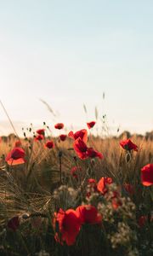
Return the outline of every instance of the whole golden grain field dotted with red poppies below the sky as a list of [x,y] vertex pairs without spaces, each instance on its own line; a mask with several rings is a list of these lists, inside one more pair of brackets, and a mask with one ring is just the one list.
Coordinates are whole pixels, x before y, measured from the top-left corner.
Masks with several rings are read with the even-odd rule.
[[1,138],[0,255],[152,255],[152,137],[55,128]]

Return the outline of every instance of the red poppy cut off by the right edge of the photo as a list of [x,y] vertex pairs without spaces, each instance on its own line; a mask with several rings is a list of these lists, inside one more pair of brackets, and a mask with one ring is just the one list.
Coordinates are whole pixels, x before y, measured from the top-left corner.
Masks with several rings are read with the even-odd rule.
[[144,186],[153,185],[153,164],[148,164],[141,169],[141,183]]

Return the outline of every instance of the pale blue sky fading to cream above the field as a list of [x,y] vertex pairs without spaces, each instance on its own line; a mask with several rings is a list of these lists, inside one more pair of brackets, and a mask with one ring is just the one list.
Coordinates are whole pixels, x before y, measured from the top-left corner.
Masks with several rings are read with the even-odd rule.
[[152,24],[152,0],[0,0],[0,100],[16,130],[84,128],[95,107],[111,131],[153,130]]

